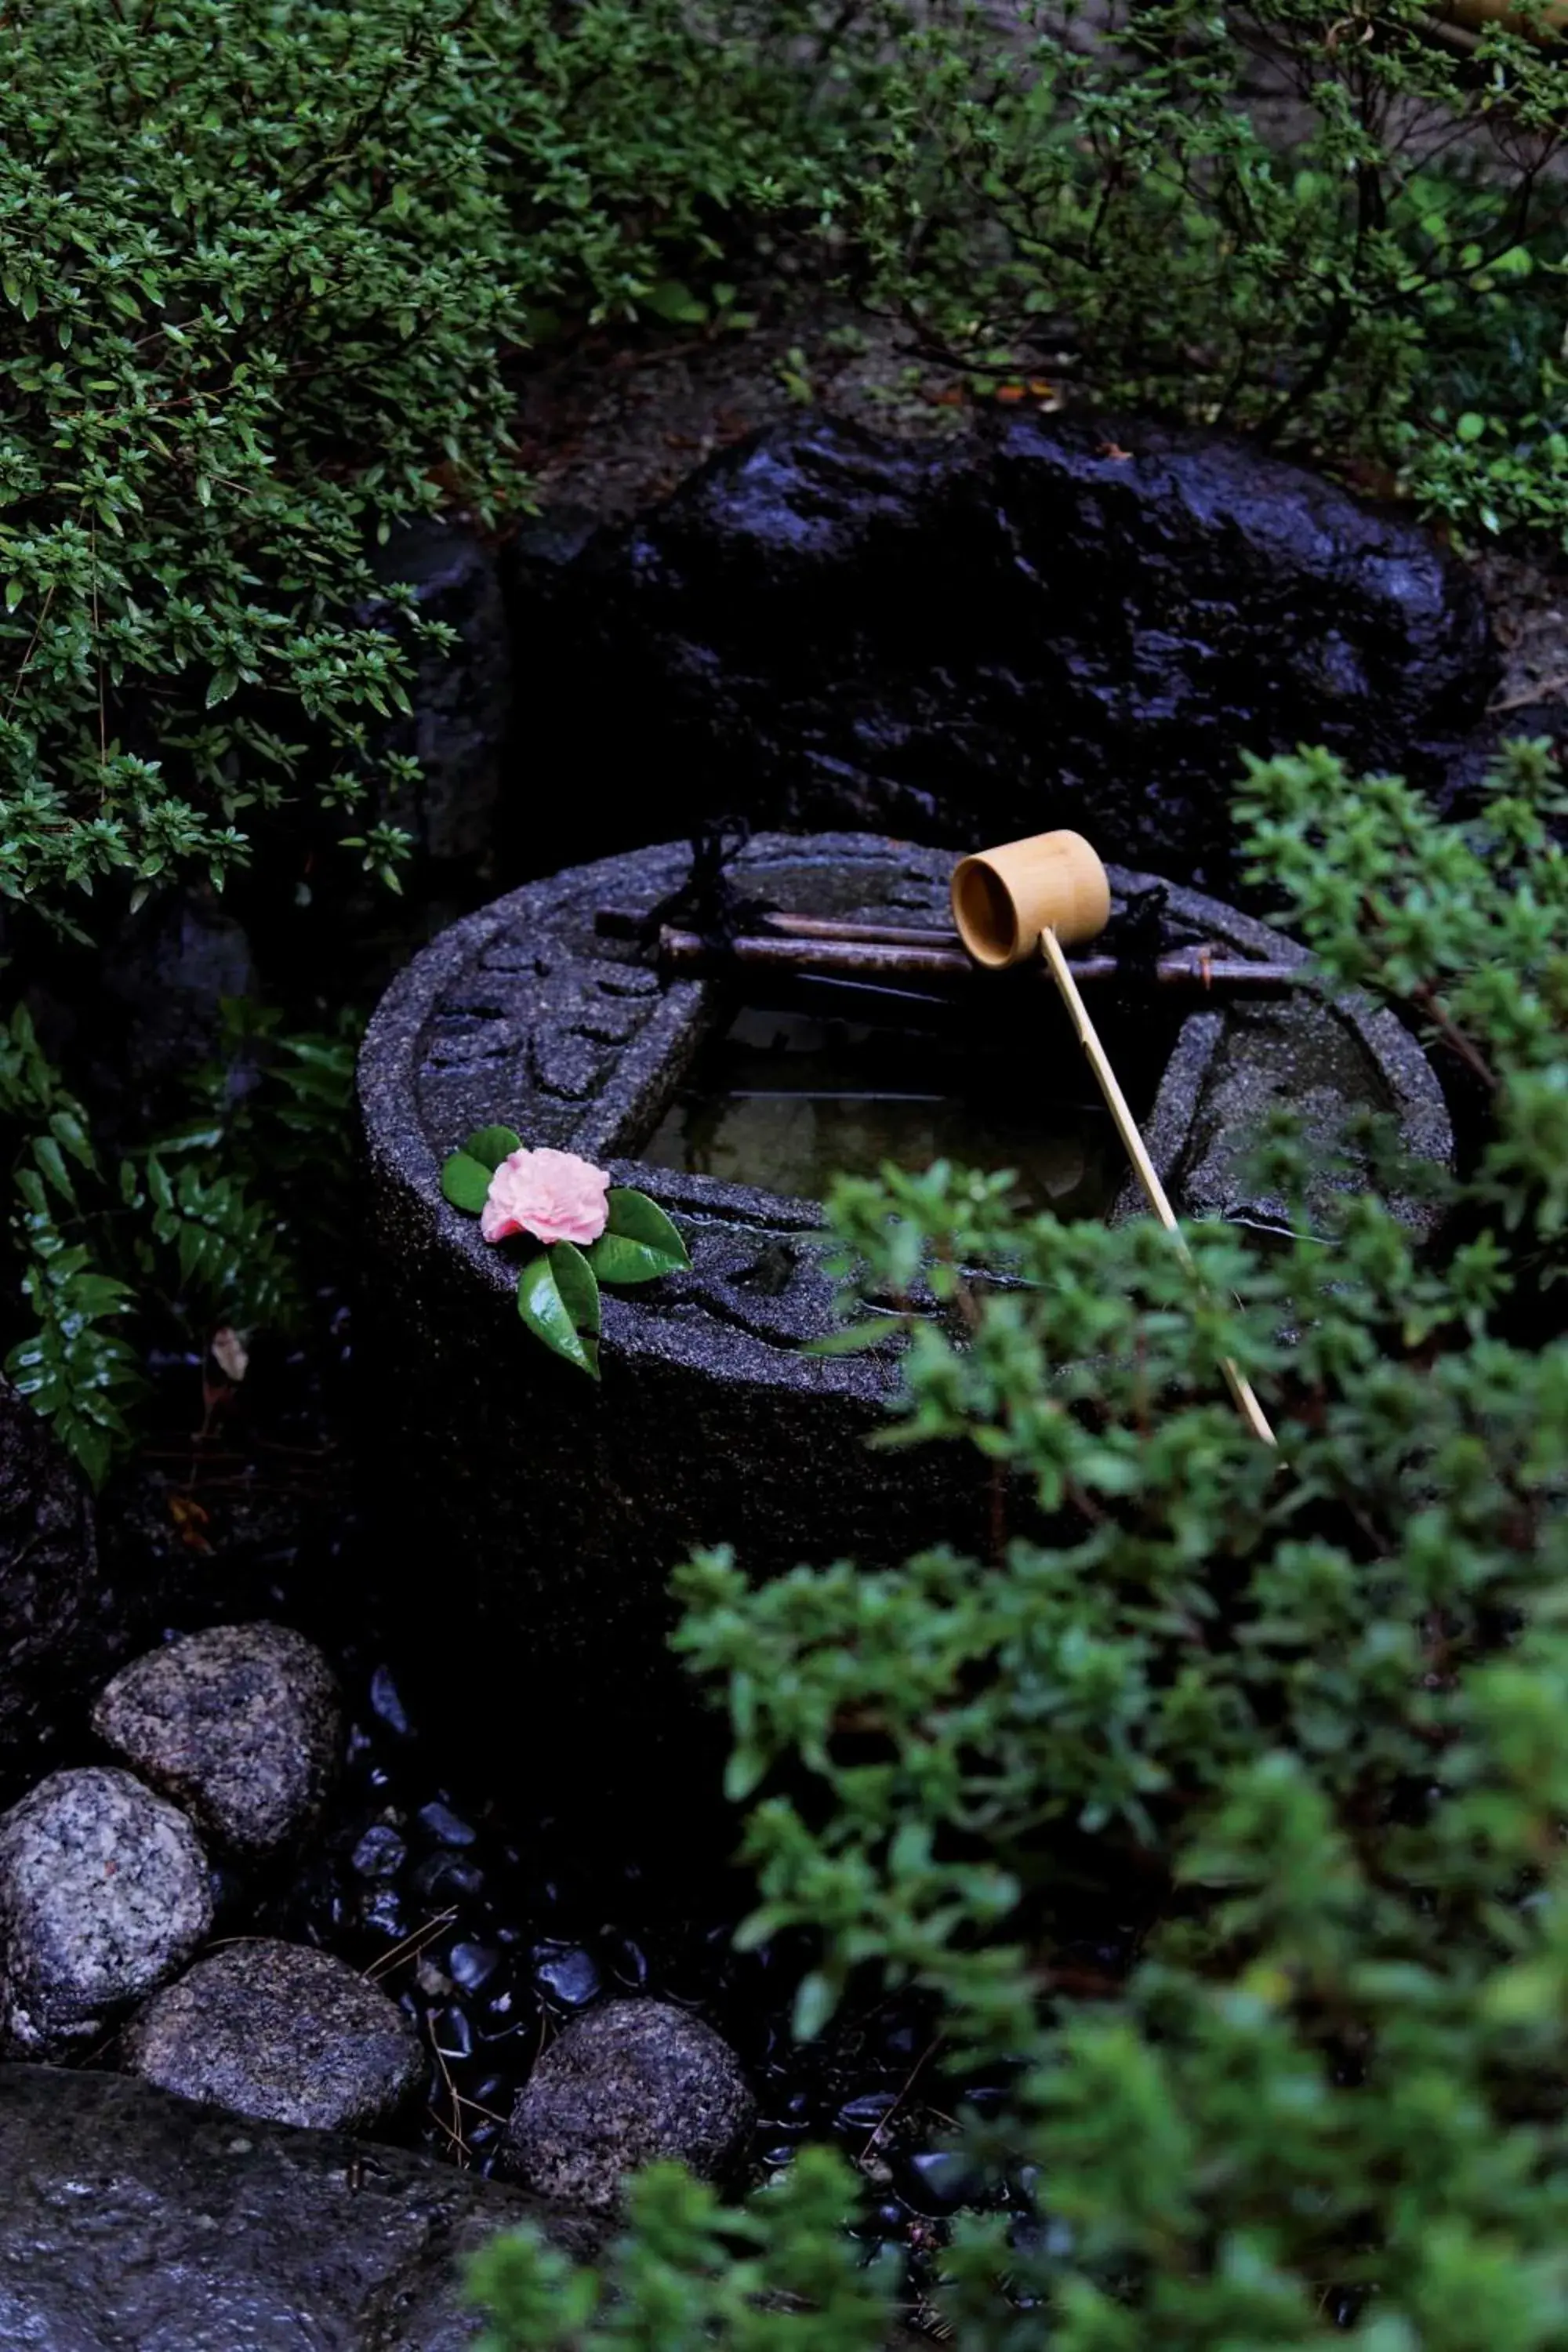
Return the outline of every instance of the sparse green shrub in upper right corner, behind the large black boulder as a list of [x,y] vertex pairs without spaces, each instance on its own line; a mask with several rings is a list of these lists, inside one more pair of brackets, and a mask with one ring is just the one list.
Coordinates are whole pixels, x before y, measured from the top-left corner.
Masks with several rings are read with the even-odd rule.
[[1016,16],[938,14],[867,127],[856,221],[929,343],[1561,536],[1561,47],[1455,56],[1425,0]]

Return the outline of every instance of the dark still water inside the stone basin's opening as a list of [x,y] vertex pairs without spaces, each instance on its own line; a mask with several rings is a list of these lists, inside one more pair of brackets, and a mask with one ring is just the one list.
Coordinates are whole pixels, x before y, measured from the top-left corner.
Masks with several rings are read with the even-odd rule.
[[1081,1063],[1037,1040],[987,1054],[971,1035],[748,1007],[691,1070],[639,1157],[820,1200],[835,1174],[884,1160],[1013,1169],[1023,1200],[1103,1216],[1126,1162]]

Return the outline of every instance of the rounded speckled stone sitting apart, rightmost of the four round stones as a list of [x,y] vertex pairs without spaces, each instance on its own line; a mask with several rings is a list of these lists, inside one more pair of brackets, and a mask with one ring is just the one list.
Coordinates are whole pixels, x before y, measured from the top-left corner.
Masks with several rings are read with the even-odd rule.
[[668,2002],[609,2002],[543,2053],[505,2136],[505,2161],[541,2197],[611,2211],[628,2173],[658,2157],[722,2180],[757,2110],[741,2060]]

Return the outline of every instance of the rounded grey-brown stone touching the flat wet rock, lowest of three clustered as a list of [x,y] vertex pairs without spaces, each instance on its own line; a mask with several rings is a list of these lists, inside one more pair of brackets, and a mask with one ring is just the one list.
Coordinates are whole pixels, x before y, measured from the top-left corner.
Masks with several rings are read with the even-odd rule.
[[343,1959],[233,1943],[155,1994],[125,2034],[132,2074],[270,2124],[371,2131],[423,2074],[404,2013]]

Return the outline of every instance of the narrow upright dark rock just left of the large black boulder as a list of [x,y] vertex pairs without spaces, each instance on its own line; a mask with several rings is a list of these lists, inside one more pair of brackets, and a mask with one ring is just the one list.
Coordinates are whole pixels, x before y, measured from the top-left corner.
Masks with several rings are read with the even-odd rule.
[[451,652],[416,656],[414,713],[383,731],[383,748],[411,753],[423,771],[418,788],[393,802],[390,814],[437,863],[482,858],[512,722],[512,659],[496,560],[473,529],[430,517],[395,532],[376,569],[383,581],[414,588],[423,621],[456,630]]

